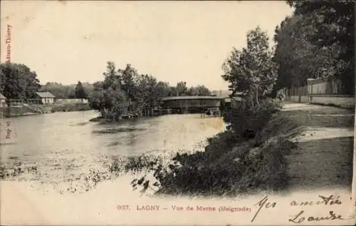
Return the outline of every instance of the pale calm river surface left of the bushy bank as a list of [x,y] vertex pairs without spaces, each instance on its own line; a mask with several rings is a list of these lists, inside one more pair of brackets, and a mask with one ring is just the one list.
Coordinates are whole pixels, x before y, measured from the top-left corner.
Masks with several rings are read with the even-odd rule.
[[16,143],[0,146],[1,165],[36,166],[36,173],[4,180],[58,185],[93,170],[105,170],[104,166],[115,158],[199,150],[206,138],[224,130],[221,118],[201,118],[200,114],[162,115],[111,124],[89,122],[96,116],[94,111],[84,111],[11,118]]

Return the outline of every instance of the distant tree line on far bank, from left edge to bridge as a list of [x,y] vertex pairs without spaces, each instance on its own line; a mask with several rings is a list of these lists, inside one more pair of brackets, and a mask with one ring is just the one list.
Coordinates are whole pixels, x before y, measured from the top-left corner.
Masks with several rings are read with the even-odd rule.
[[127,112],[142,114],[145,108],[158,106],[162,97],[211,95],[205,86],[188,87],[185,81],[170,86],[153,76],[139,75],[130,64],[116,69],[113,62],[108,62],[104,80],[93,84],[48,82],[41,86],[37,73],[21,63],[0,63],[0,81],[0,93],[8,100],[26,101],[38,98],[36,92],[46,91],[56,98],[88,98],[93,109],[105,118],[116,119]]

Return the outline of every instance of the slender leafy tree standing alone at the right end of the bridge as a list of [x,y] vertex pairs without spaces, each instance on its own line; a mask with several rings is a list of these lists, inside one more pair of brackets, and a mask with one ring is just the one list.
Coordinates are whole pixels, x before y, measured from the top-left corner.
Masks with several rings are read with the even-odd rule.
[[222,78],[230,83],[233,92],[242,92],[251,106],[258,99],[271,93],[276,83],[276,63],[268,46],[268,36],[259,27],[247,34],[247,47],[241,51],[234,48],[223,65]]

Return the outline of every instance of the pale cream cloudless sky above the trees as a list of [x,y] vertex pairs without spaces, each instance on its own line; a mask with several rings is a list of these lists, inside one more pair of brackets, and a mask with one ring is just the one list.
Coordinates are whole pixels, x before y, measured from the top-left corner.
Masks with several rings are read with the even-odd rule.
[[284,1],[1,1],[1,63],[9,53],[41,84],[100,81],[114,61],[171,85],[226,90],[221,66],[232,48],[256,26],[273,45],[290,14]]

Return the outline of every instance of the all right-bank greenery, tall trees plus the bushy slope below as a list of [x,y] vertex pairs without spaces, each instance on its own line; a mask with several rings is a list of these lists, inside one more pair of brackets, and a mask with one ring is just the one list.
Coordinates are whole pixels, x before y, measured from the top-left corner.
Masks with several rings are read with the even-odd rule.
[[224,63],[222,78],[233,95],[241,92],[245,99],[224,115],[229,129],[210,138],[204,152],[177,154],[168,165],[159,157],[130,158],[127,171],[145,172],[132,181],[134,188],[184,195],[286,188],[285,156],[298,148],[290,138],[300,127],[267,98],[281,88],[303,86],[308,78],[340,79],[343,94],[355,95],[355,2],[287,4],[295,10],[276,27],[274,51],[266,33],[256,28],[248,32],[246,48],[234,48]]

